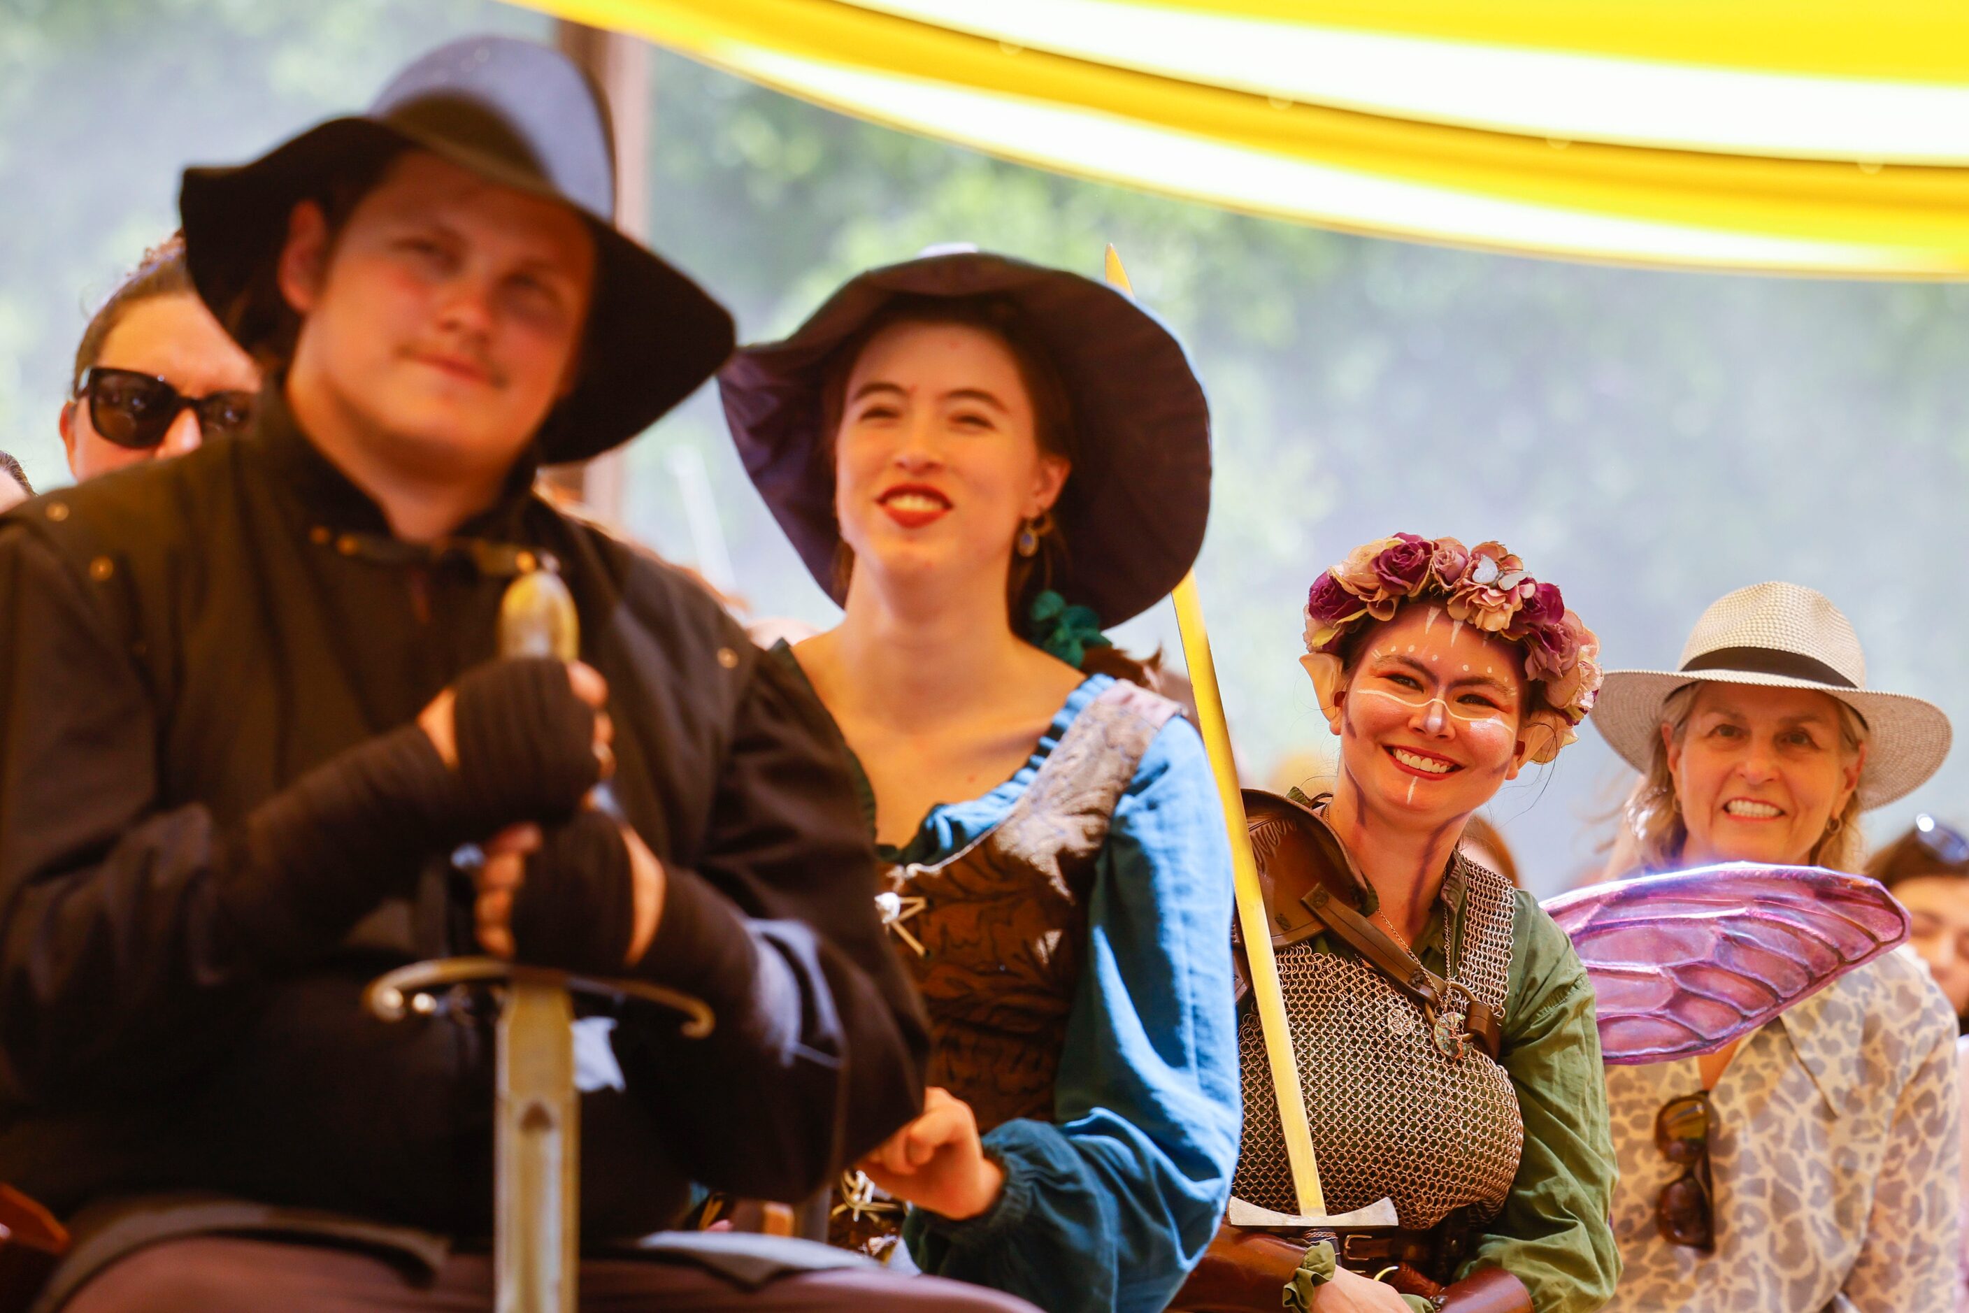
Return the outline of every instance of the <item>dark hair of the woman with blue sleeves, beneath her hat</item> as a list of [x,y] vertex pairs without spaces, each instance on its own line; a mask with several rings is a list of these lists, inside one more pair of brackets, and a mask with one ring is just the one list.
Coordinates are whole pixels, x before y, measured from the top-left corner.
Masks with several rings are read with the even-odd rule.
[[[988,333],[1004,343],[1012,364],[1018,368],[1018,380],[1026,386],[1026,398],[1032,402],[1034,441],[1042,453],[1059,457],[1069,467],[1073,465],[1079,453],[1079,433],[1073,423],[1073,394],[1059,376],[1051,352],[1032,331],[1016,301],[1002,295],[900,295],[841,343],[827,362],[827,376],[821,384],[821,441],[825,443],[829,467],[833,467],[833,443],[841,431],[841,415],[847,411],[849,374],[855,372],[855,362],[860,360],[862,348],[878,333],[900,323],[959,325]],[[1034,555],[1022,557],[1014,553],[1012,569],[1006,573],[1004,583],[1006,616],[1012,622],[1014,634],[1030,638],[1028,616],[1032,614],[1032,602],[1051,587],[1053,575],[1069,551],[1071,543],[1055,520],[1051,530],[1040,537],[1040,549]],[[843,541],[835,555],[835,581],[843,591],[853,569],[855,553]],[[1067,598],[1067,602],[1073,600],[1071,596]],[[1081,669],[1091,675],[1128,679],[1144,689],[1156,687],[1156,671],[1160,667],[1160,652],[1142,661],[1120,648],[1087,648],[1087,656],[1081,659]]]

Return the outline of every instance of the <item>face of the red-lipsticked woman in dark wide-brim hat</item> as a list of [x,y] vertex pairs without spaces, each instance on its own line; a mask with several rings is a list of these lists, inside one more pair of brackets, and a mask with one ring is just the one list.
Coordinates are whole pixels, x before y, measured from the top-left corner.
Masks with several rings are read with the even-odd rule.
[[862,346],[835,433],[835,514],[857,579],[1002,591],[1012,539],[1065,478],[998,335],[902,321]]

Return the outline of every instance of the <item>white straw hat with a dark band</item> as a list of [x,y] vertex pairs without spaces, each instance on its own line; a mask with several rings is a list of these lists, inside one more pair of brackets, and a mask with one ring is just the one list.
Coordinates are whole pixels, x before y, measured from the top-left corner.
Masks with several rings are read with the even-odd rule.
[[1719,598],[1695,622],[1674,671],[1607,671],[1589,719],[1628,766],[1648,774],[1668,695],[1705,679],[1815,689],[1857,711],[1867,722],[1863,809],[1912,793],[1949,754],[1947,715],[1906,693],[1869,689],[1853,622],[1823,593],[1796,583],[1760,583]]

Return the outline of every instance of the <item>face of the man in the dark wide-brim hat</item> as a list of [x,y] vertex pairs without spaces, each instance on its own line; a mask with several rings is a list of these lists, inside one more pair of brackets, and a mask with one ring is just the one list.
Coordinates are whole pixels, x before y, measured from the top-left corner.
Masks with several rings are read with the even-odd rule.
[[335,234],[295,207],[289,394],[421,476],[504,470],[573,386],[593,280],[595,238],[565,205],[408,152]]

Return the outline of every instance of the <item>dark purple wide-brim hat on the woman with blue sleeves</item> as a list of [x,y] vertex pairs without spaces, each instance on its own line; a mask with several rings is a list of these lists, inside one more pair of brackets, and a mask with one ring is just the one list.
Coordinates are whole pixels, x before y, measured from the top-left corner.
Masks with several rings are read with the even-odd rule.
[[738,457],[813,579],[835,579],[833,443],[821,392],[841,350],[898,297],[1012,301],[1071,396],[1073,472],[1053,506],[1065,553],[1051,587],[1101,624],[1148,610],[1203,547],[1211,411],[1181,343],[1120,291],[1008,256],[945,250],[849,280],[780,343],[744,346],[719,372]]

